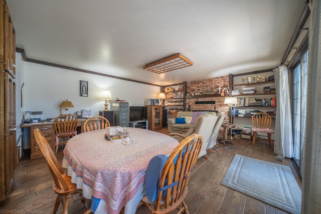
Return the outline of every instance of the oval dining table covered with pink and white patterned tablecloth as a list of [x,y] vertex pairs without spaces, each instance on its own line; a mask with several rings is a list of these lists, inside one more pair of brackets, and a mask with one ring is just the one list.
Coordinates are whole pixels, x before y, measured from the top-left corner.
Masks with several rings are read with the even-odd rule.
[[62,166],[91,199],[94,213],[135,213],[145,194],[144,175],[152,157],[170,154],[179,142],[163,133],[126,127],[131,144],[106,140],[106,129],[84,132],[70,138]]

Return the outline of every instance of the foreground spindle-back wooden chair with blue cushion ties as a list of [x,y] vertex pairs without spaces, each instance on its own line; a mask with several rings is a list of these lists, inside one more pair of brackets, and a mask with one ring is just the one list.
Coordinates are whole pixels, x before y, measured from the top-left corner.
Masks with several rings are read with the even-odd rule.
[[[168,159],[155,186],[155,200],[150,202],[147,195],[142,199],[152,213],[165,214],[175,209],[179,209],[178,213],[189,213],[184,198],[188,192],[187,183],[202,148],[202,141],[201,135],[190,135],[178,144],[169,156],[165,156]],[[157,171],[159,173],[160,170]],[[146,179],[148,178],[145,177],[145,183]]]

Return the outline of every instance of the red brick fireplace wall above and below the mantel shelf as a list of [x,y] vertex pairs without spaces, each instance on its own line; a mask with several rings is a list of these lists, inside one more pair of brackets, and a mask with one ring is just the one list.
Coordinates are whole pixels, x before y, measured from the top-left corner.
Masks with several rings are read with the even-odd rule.
[[[218,88],[228,88],[229,85],[229,76],[215,77],[203,80],[189,81],[187,82],[187,93],[202,93],[214,91],[215,94],[218,94]],[[225,97],[205,97],[205,98],[189,98],[186,99],[186,109],[188,109],[189,105],[191,106],[191,111],[193,110],[217,110],[224,112],[226,114],[224,122],[229,122],[229,117],[227,111],[229,107],[224,104]],[[196,101],[210,101],[215,100],[215,104],[198,104],[196,105]]]

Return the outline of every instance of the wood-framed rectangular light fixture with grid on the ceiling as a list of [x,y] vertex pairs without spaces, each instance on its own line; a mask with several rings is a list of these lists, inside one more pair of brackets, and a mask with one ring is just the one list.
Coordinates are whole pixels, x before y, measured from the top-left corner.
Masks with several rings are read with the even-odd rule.
[[162,60],[149,63],[148,65],[145,65],[143,69],[156,74],[162,74],[164,72],[185,68],[191,65],[193,65],[193,62],[184,57],[182,54],[175,54]]

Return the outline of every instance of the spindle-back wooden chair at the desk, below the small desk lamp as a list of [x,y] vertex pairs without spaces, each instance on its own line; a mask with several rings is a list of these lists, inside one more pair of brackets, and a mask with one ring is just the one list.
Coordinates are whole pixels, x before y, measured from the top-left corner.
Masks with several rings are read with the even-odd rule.
[[77,134],[78,119],[75,115],[64,114],[56,117],[54,121],[55,128],[55,154],[57,154],[58,147],[65,145],[67,141]]

